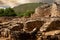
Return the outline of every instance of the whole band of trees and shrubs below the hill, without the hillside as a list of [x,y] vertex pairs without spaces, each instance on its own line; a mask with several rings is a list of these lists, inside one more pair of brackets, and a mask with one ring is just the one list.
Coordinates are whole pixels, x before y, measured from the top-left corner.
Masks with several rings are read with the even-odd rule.
[[18,17],[30,17],[31,14],[33,14],[34,11],[27,10],[24,13],[16,13],[13,8],[6,8],[6,9],[0,9],[0,17],[1,16],[18,16]]

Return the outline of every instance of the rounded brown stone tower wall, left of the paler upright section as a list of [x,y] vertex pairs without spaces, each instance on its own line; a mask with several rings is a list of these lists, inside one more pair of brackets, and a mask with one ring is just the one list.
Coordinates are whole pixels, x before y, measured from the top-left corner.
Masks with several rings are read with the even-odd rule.
[[31,17],[49,17],[50,14],[50,5],[46,4],[41,7],[37,7],[35,9],[35,14],[33,14]]

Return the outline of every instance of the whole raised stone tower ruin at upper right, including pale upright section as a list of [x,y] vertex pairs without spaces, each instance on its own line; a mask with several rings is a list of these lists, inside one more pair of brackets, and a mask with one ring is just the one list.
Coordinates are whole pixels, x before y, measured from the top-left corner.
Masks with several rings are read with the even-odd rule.
[[52,3],[51,5],[43,5],[35,9],[35,14],[31,17],[60,17],[59,5]]

